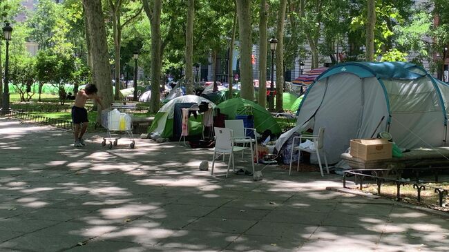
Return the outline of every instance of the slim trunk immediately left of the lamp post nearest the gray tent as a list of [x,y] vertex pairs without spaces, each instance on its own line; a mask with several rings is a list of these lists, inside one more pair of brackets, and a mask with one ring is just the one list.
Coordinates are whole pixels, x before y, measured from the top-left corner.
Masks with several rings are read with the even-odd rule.
[[267,106],[267,1],[260,1],[259,20],[259,105]]

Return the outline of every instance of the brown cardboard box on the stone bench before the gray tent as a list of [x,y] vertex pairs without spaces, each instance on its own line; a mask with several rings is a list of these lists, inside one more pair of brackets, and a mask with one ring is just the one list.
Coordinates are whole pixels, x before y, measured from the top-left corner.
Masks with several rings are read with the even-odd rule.
[[393,144],[387,139],[352,139],[351,155],[359,159],[370,161],[392,158]]

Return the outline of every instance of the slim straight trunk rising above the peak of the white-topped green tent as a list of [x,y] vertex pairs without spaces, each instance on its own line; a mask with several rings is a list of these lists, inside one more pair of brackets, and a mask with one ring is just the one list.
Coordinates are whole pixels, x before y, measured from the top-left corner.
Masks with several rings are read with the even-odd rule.
[[193,93],[193,20],[195,19],[195,0],[187,1],[187,27],[186,27],[186,92]]

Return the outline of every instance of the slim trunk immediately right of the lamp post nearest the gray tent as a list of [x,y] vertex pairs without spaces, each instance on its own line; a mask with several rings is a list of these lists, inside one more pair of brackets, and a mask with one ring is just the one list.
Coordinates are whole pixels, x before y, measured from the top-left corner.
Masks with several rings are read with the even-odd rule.
[[278,14],[278,46],[276,48],[276,111],[283,111],[283,90],[284,90],[284,23],[287,0],[280,0]]

